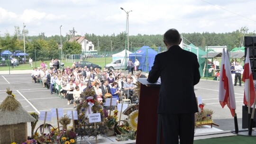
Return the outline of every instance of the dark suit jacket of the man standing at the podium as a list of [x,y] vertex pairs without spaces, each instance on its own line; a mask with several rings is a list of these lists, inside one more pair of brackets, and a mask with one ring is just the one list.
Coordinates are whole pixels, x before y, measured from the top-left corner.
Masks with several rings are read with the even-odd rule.
[[194,85],[200,80],[196,54],[173,45],[157,54],[148,75],[148,82],[161,76],[158,113],[177,114],[198,112]]

